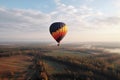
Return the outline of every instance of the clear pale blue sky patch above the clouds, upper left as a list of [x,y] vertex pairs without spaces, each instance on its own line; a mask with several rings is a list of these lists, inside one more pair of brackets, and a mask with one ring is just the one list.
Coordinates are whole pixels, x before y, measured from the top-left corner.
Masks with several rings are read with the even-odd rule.
[[0,5],[10,9],[35,9],[43,12],[50,12],[56,7],[53,0],[0,0]]

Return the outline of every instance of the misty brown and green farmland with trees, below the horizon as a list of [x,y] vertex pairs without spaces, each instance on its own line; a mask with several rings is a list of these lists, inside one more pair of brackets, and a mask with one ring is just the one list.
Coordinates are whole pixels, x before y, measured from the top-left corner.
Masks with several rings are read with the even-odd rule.
[[0,80],[119,80],[119,49],[103,42],[0,43]]

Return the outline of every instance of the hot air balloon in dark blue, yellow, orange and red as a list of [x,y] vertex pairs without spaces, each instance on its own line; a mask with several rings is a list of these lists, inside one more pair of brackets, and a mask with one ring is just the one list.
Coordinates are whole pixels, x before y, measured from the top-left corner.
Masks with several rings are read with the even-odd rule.
[[58,46],[60,41],[64,38],[67,33],[67,26],[63,22],[55,22],[50,25],[50,34],[57,41]]

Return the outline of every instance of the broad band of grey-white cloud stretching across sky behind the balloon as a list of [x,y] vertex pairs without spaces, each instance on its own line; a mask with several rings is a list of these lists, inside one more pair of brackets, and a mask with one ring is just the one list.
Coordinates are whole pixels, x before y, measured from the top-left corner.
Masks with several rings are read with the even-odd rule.
[[104,13],[87,5],[76,8],[63,4],[60,0],[55,0],[55,2],[56,10],[50,13],[32,9],[0,8],[0,31],[44,32],[52,22],[56,21],[65,22],[70,27],[70,31],[74,30],[75,32],[119,25],[119,17],[105,16]]

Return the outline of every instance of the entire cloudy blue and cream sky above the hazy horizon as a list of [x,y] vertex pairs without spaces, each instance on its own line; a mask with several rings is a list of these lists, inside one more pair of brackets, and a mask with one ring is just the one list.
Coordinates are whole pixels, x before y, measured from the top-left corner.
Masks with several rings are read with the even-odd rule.
[[55,42],[53,22],[64,22],[66,42],[120,42],[120,0],[0,0],[0,41]]

